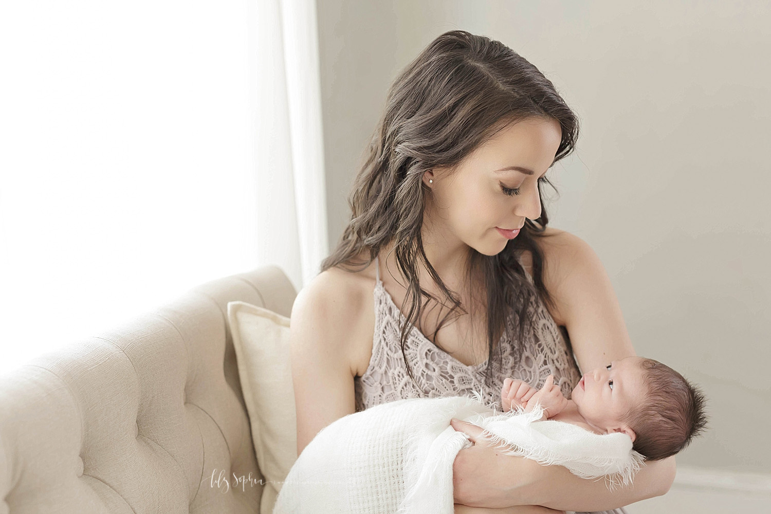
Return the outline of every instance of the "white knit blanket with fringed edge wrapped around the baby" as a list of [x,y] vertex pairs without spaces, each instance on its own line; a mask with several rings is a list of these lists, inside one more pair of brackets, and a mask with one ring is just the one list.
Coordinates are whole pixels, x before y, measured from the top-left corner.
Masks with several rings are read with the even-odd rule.
[[574,475],[629,484],[643,457],[631,438],[599,435],[533,412],[496,412],[479,398],[409,398],[346,415],[305,447],[273,514],[453,514],[453,461],[472,443],[451,418],[479,425],[501,452]]

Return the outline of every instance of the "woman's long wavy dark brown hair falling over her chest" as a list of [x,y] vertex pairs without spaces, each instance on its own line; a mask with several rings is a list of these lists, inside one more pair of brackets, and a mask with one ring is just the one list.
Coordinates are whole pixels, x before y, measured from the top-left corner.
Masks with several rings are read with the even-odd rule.
[[[405,305],[409,303],[404,314],[408,323],[402,325],[400,337],[405,362],[407,337],[421,319],[423,298],[439,302],[420,287],[418,261],[452,304],[449,314],[468,314],[423,250],[421,227],[431,193],[423,185],[423,173],[436,166],[447,167],[453,173],[466,156],[501,129],[531,118],[556,119],[560,123],[562,138],[555,163],[573,151],[578,119],[550,80],[503,43],[463,30],[439,35],[389,88],[385,109],[348,197],[351,218],[332,254],[323,260],[321,271],[330,267],[360,271],[372,263],[382,247],[393,243],[396,263],[408,282],[404,300]],[[539,180],[543,206],[542,183],[554,185],[545,177]],[[517,341],[532,330],[528,315],[531,302],[540,297],[554,306],[544,287],[544,257],[536,244],[537,237],[544,237],[547,223],[546,209],[542,207],[540,217],[525,220],[520,235],[499,254],[487,256],[469,247],[468,284],[472,283],[471,277],[483,277],[480,283],[487,290],[488,384],[495,354],[500,358],[497,341],[503,331],[509,332],[519,361],[521,345]],[[357,260],[365,248],[369,260]],[[535,287],[527,281],[518,262],[524,250],[530,250],[533,256]],[[436,341],[436,332],[449,314],[439,323],[432,341]],[[513,325],[518,327],[516,335],[507,324],[509,314],[513,314]],[[409,363],[407,371],[415,381]]]

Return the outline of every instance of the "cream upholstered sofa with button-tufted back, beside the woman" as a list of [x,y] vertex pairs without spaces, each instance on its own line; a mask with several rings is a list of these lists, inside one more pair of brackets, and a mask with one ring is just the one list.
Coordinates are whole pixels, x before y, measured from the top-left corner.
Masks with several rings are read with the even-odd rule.
[[259,512],[227,302],[295,294],[275,266],[220,278],[0,377],[0,514]]

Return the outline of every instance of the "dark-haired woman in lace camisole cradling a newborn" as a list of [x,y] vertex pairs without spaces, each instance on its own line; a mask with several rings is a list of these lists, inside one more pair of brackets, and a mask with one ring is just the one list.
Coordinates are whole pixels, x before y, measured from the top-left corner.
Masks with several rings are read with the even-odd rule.
[[[383,401],[472,390],[494,401],[504,378],[537,388],[547,375],[567,396],[577,365],[635,355],[594,251],[547,227],[540,187],[577,133],[552,83],[485,37],[446,32],[397,77],[348,227],[292,309],[298,454]],[[600,511],[664,494],[675,461],[611,493],[480,442],[453,473],[457,512]]]

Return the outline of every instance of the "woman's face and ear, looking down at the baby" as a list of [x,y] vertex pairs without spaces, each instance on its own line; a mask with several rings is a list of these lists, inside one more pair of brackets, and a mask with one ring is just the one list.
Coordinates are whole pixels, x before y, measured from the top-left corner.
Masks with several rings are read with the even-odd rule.
[[556,119],[525,119],[477,148],[456,173],[427,171],[423,181],[433,189],[433,201],[424,219],[433,238],[450,244],[450,251],[466,244],[480,254],[498,254],[508,241],[498,228],[519,229],[525,218],[540,217],[538,179],[554,163],[561,137]]

